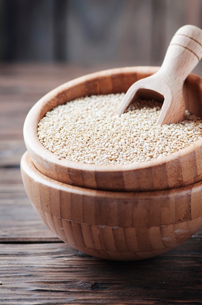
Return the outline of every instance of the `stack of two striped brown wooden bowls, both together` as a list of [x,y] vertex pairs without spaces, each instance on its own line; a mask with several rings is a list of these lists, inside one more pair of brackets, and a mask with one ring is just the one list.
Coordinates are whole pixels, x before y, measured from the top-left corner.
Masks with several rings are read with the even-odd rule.
[[[202,139],[160,159],[105,166],[59,158],[37,135],[38,122],[55,106],[126,92],[158,69],[117,68],[76,78],[42,97],[26,117],[21,174],[28,197],[52,232],[86,254],[149,258],[202,226]],[[183,90],[186,109],[202,117],[202,77],[190,74]]]

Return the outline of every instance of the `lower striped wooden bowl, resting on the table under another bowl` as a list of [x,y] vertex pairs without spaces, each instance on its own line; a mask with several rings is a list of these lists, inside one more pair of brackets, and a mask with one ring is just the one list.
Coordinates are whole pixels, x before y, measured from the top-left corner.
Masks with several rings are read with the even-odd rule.
[[28,152],[21,159],[21,173],[34,209],[50,230],[95,257],[153,257],[180,245],[202,226],[202,181],[165,191],[96,191],[45,176]]

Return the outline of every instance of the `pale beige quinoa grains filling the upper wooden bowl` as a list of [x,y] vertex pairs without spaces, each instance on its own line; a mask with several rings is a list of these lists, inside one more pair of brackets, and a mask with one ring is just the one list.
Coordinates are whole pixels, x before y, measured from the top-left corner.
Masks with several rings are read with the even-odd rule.
[[115,115],[124,93],[81,97],[47,112],[38,138],[59,158],[99,165],[130,164],[164,157],[202,137],[202,119],[185,112],[181,123],[158,125],[161,106],[133,102]]

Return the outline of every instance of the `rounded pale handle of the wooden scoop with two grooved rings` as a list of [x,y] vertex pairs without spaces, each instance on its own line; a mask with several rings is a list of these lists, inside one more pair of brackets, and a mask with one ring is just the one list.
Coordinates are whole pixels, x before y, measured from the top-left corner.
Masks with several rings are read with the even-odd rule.
[[202,30],[195,25],[184,25],[171,39],[159,73],[167,80],[184,82],[201,58]]

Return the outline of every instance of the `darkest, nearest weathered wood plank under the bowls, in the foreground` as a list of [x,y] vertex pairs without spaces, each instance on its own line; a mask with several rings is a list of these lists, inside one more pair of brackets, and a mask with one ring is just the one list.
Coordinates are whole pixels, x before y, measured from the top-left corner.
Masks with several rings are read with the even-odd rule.
[[63,243],[7,244],[0,304],[201,304],[201,240],[185,244],[136,262],[102,261]]

